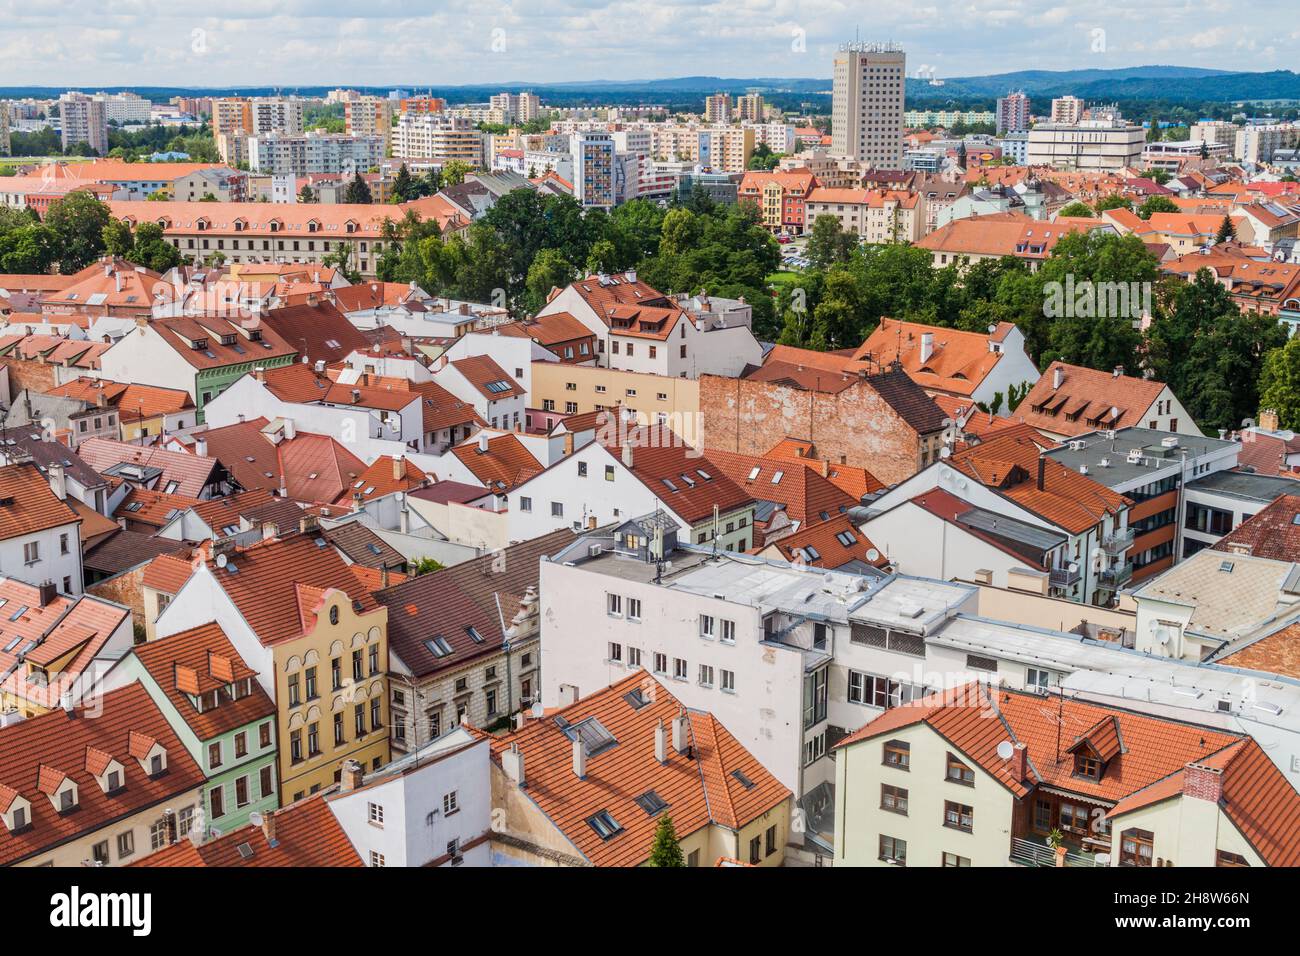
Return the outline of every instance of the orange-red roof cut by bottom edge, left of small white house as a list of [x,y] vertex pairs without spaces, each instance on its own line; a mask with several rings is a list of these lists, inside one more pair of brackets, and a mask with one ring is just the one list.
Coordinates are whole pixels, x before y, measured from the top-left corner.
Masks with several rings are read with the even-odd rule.
[[274,839],[264,827],[248,823],[238,830],[195,845],[179,843],[151,853],[133,866],[364,866],[347,839],[324,793],[316,793],[278,810],[268,810],[274,821]]

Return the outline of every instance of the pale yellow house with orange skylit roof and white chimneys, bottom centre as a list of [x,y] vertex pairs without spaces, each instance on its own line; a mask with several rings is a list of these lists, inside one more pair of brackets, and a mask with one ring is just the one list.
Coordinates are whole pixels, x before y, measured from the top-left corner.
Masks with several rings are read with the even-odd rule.
[[645,866],[663,816],[686,866],[781,866],[794,838],[789,790],[712,714],[644,674],[569,692],[558,713],[493,737],[491,760],[497,865]]

